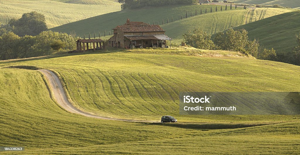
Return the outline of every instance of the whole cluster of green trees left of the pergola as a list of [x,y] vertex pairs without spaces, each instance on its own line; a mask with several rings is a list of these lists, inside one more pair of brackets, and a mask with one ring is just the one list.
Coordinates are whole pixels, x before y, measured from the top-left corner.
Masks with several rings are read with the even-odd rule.
[[47,31],[43,14],[25,13],[0,27],[0,60],[45,56],[74,50],[79,37]]

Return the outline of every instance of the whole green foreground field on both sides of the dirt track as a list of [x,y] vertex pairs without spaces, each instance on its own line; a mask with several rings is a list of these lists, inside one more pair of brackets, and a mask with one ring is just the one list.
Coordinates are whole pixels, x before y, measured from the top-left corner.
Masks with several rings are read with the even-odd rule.
[[[177,93],[299,91],[299,66],[181,48],[84,54],[0,61],[0,145],[25,147],[1,154],[298,154],[299,116],[183,117]],[[3,68],[16,65],[57,71],[76,106],[89,112],[215,123],[129,123],[70,114],[52,101],[40,72]]]

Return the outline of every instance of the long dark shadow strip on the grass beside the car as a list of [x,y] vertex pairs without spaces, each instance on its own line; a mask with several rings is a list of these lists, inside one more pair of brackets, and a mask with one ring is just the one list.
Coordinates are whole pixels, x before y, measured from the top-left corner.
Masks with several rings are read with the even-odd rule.
[[147,125],[171,126],[184,129],[200,129],[202,131],[214,129],[237,129],[253,126],[270,125],[270,123],[147,123]]

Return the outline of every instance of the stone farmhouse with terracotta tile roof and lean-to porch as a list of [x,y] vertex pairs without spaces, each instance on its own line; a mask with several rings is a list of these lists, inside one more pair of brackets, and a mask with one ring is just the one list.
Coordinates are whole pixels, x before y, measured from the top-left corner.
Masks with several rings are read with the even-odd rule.
[[131,22],[117,26],[113,30],[113,37],[106,43],[107,47],[117,48],[145,48],[145,47],[167,47],[170,40],[165,31],[159,25],[149,25],[143,22]]

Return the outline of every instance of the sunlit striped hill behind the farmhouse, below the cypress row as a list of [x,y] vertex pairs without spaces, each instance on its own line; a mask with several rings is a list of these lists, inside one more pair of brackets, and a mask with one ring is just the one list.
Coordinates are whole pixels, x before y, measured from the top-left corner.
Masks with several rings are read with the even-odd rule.
[[204,14],[184,20],[165,24],[162,28],[167,34],[175,39],[181,39],[182,34],[187,30],[201,28],[208,34],[214,34],[245,23],[251,23],[274,15],[290,12],[279,8],[257,8],[249,10],[233,10],[226,12],[216,12],[213,14]]

